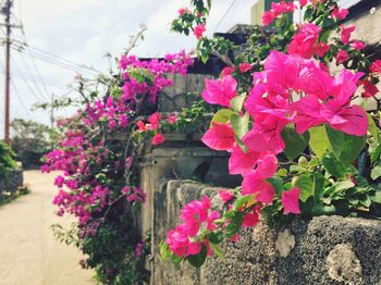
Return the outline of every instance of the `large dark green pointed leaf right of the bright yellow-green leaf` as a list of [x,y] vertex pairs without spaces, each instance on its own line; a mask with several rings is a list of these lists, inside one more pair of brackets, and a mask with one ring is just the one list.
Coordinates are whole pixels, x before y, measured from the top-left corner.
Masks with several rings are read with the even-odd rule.
[[366,136],[351,136],[327,125],[325,131],[334,154],[344,166],[348,166],[366,145]]

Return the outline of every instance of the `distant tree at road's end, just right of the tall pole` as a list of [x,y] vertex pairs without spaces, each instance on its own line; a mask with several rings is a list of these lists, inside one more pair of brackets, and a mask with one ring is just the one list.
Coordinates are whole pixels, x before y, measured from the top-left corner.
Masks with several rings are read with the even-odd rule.
[[40,158],[51,149],[51,128],[37,122],[14,119],[11,129],[11,147],[23,165],[40,164]]

